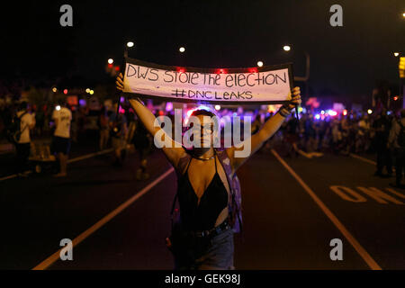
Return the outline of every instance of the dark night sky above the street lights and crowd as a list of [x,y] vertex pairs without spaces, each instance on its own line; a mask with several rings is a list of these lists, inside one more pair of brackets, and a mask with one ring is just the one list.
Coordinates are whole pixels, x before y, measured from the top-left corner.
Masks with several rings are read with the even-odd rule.
[[[73,6],[74,26],[59,25],[59,7]],[[341,4],[343,27],[329,25]],[[311,94],[371,94],[375,81],[398,86],[405,53],[405,1],[41,1],[1,7],[1,79],[29,83],[81,77],[112,81],[104,67],[130,57],[164,65],[254,67],[294,62],[304,74],[311,56]],[[293,53],[283,46],[289,44]],[[180,55],[178,49],[186,52]],[[30,82],[31,81],[31,82]],[[56,81],[56,80],[55,80]]]

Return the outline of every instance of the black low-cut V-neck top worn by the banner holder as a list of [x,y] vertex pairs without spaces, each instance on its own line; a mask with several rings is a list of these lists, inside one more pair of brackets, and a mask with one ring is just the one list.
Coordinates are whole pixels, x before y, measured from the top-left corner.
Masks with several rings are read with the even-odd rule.
[[200,203],[193,185],[188,177],[188,167],[193,157],[188,162],[184,175],[178,180],[178,202],[180,204],[180,217],[184,229],[207,230],[215,226],[220,212],[228,206],[228,192],[220,179],[217,170],[217,157],[215,155],[215,175],[207,189],[202,193]]

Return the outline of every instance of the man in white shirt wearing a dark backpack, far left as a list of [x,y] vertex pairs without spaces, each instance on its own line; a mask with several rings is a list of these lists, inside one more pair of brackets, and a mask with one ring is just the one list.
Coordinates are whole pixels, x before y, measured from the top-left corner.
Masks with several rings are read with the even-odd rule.
[[31,138],[30,130],[35,127],[35,119],[27,111],[27,103],[20,104],[16,117],[20,120],[20,138],[16,139],[15,149],[17,151],[17,175],[25,176],[24,169],[27,167],[27,160],[30,156]]

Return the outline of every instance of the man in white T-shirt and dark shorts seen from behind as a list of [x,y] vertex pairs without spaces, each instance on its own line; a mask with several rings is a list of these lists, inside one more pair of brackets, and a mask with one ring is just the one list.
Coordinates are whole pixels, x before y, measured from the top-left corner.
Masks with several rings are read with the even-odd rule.
[[70,112],[63,102],[58,103],[52,113],[52,120],[55,121],[55,132],[53,133],[53,151],[57,153],[60,171],[56,177],[67,175],[67,155],[70,150],[70,122],[72,112]]

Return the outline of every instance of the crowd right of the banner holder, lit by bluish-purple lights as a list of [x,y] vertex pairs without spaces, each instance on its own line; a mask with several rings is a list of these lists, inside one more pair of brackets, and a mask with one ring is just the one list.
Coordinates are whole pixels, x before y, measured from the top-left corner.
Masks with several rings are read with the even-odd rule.
[[374,175],[391,177],[395,166],[396,185],[401,186],[405,165],[405,110],[333,115],[308,112],[302,113],[299,120],[291,115],[276,137],[283,143],[288,157],[320,157],[326,152],[343,156],[375,154]]

